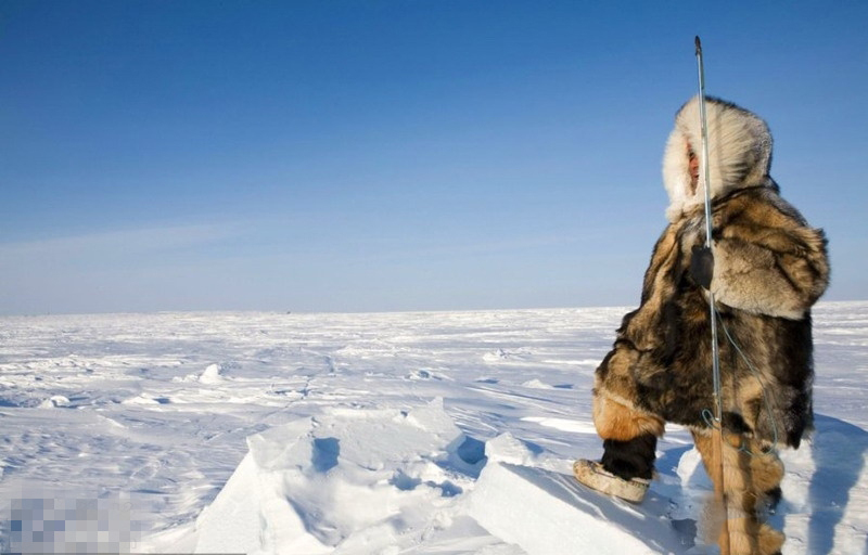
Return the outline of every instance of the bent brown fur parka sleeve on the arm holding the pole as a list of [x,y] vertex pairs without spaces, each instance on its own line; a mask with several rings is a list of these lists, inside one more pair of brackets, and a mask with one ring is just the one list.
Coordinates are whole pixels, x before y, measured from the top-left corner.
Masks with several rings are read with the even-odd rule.
[[829,284],[826,235],[801,217],[762,212],[716,234],[711,291],[732,308],[801,320]]

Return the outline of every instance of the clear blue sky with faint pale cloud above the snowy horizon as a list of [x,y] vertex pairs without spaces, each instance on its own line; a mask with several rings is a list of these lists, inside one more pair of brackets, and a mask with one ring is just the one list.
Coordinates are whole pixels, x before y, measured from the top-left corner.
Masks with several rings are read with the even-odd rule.
[[868,298],[868,3],[0,3],[0,314],[636,306],[673,116]]

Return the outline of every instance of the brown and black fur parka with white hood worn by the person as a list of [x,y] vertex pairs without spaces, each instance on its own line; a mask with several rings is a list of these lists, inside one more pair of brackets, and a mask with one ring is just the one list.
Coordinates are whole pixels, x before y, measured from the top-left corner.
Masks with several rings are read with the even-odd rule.
[[[810,307],[829,281],[824,232],[808,227],[769,177],[771,135],[754,114],[706,99],[724,426],[799,447],[813,418]],[[707,429],[715,401],[707,292],[690,272],[705,243],[698,98],[675,118],[663,159],[668,225],[597,369],[595,422],[604,438],[663,433],[663,421]],[[646,418],[618,418],[621,408]],[[629,428],[629,429],[628,429]]]

